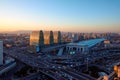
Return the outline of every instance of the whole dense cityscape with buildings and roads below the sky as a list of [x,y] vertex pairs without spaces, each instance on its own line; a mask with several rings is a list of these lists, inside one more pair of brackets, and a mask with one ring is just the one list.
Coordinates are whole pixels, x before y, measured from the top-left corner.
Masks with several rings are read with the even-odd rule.
[[113,80],[119,73],[117,33],[32,31],[0,40],[1,80]]

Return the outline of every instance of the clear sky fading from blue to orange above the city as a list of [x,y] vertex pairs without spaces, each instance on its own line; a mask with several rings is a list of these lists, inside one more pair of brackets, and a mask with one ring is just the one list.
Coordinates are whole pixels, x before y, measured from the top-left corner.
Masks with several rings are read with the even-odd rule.
[[0,31],[120,32],[120,0],[0,0]]

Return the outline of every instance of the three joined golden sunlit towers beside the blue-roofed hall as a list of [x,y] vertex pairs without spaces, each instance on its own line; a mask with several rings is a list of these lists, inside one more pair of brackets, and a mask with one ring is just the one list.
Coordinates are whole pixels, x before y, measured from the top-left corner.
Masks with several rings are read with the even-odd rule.
[[39,50],[45,45],[53,45],[54,43],[61,43],[60,31],[33,31],[30,34],[30,49],[33,52],[39,52]]

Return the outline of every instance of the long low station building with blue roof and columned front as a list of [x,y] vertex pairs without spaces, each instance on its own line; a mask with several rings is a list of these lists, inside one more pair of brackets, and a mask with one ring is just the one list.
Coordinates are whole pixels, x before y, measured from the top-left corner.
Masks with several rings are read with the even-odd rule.
[[104,40],[105,40],[104,38],[99,38],[99,39],[90,39],[90,40],[80,41],[77,43],[68,43],[66,45],[66,51],[86,54],[89,52],[89,50],[92,47],[103,42]]

